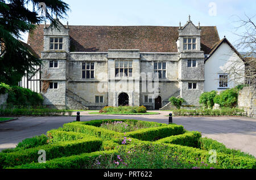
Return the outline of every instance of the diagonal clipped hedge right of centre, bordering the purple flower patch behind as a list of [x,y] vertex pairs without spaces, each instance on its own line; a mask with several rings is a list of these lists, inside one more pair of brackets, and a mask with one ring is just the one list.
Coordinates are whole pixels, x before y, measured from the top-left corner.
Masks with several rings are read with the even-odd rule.
[[163,127],[143,128],[137,131],[127,132],[126,136],[145,141],[155,141],[166,138],[167,136],[179,135],[184,133],[181,125],[168,125]]

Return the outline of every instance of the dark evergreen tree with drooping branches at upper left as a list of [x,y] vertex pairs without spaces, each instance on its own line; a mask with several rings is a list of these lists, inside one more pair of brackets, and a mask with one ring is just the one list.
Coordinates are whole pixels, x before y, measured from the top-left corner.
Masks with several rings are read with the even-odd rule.
[[[30,10],[32,7],[32,10]],[[32,32],[36,24],[54,17],[64,18],[69,6],[61,0],[0,0],[0,82],[18,85],[26,72],[35,71],[40,60],[31,54],[21,33]],[[44,12],[44,16],[40,15]]]

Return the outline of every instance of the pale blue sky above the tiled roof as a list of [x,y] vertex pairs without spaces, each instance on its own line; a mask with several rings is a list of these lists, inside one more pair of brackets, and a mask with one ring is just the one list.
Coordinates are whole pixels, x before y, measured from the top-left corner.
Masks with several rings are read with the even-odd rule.
[[[155,25],[179,26],[191,21],[201,26],[217,26],[220,38],[235,45],[244,29],[236,29],[239,18],[256,15],[255,0],[63,0],[69,6],[63,24],[69,25]],[[27,34],[23,36],[27,41]]]

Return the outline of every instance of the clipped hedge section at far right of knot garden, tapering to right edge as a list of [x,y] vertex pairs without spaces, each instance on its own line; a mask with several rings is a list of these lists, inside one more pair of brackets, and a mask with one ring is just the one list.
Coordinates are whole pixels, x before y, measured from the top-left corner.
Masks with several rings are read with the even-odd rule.
[[225,153],[225,154],[233,155],[233,156],[243,156],[243,157],[255,158],[253,155],[249,155],[245,152],[241,152],[240,150],[228,149],[228,148],[226,148],[226,146],[224,144],[219,143],[216,140],[209,139],[209,138],[200,138],[199,146],[200,146],[200,149],[204,149],[207,151],[209,151],[210,149],[214,149],[218,153]]

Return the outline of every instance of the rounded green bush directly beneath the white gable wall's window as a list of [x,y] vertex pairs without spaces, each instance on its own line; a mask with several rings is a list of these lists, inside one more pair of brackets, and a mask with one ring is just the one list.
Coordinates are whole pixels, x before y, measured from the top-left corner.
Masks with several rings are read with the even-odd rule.
[[238,91],[236,88],[226,89],[214,97],[214,103],[219,104],[221,108],[234,108],[237,105],[237,99]]

